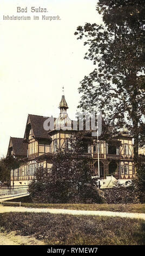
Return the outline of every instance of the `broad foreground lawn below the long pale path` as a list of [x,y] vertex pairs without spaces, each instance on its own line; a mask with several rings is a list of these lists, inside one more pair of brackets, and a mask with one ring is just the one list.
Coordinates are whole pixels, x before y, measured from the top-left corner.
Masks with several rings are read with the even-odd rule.
[[0,214],[0,227],[46,245],[144,245],[143,220],[34,212]]

